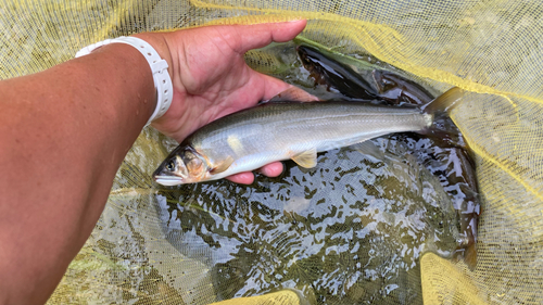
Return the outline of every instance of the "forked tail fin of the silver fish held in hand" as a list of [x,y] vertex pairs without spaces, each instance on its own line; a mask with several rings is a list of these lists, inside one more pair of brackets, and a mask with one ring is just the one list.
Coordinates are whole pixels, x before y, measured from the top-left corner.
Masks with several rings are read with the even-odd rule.
[[420,134],[431,137],[445,147],[467,148],[460,131],[450,114],[464,96],[464,90],[453,87],[421,107],[431,117],[431,125]]

